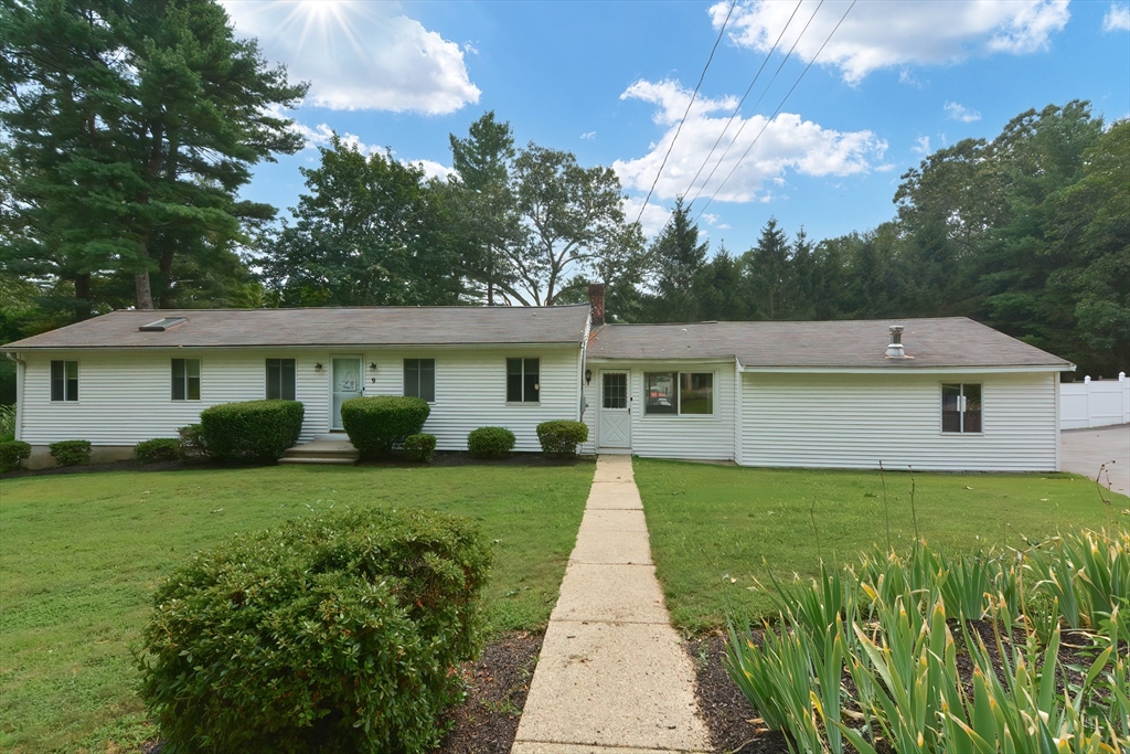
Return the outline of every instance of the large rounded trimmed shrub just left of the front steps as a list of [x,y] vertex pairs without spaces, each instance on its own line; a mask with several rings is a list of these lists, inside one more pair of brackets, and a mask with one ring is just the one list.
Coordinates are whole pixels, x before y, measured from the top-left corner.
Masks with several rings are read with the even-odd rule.
[[200,411],[208,454],[224,461],[277,461],[298,442],[305,408],[297,400],[247,400]]

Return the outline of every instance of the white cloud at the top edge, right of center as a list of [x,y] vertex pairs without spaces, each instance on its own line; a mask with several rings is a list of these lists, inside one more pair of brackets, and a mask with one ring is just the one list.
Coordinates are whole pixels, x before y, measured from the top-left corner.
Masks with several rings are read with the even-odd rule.
[[[1035,52],[1046,47],[1049,37],[1067,24],[1068,1],[859,0],[819,61],[840,68],[845,81],[857,84],[881,68],[949,63],[994,52]],[[710,8],[714,28],[721,27],[729,7],[720,0]],[[793,7],[790,2],[747,0],[733,11],[730,37],[741,46],[768,52]],[[814,18],[793,53],[806,62],[812,60],[846,9],[845,1],[825,2],[814,17],[817,0],[802,0],[781,49],[788,51]]]

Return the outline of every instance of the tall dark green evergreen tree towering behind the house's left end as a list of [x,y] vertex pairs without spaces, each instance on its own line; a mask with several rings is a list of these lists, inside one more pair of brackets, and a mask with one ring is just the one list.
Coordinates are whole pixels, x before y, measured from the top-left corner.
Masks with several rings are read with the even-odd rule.
[[6,267],[68,284],[78,318],[160,303],[182,258],[238,267],[247,223],[273,208],[236,192],[303,146],[275,113],[305,86],[236,40],[218,2],[2,0],[0,60],[28,228]]

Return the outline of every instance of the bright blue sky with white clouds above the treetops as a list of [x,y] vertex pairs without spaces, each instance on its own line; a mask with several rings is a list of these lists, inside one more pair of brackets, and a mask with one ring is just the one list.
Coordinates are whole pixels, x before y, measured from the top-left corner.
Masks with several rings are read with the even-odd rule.
[[442,175],[447,135],[494,110],[520,145],[615,167],[635,218],[723,28],[643,214],[649,234],[720,158],[694,208],[715,196],[699,225],[712,248],[741,252],[770,216],[817,240],[890,219],[907,168],[963,138],[992,138],[1029,107],[1081,98],[1107,121],[1130,115],[1125,0],[858,0],[846,16],[849,0],[738,0],[732,12],[730,0],[224,3],[238,33],[311,81],[289,113],[310,147],[259,166],[243,191],[282,209],[330,130]]

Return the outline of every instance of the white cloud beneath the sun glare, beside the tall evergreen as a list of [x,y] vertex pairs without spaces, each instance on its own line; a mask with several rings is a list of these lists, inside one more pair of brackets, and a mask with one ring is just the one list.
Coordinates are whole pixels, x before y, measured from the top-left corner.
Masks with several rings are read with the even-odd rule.
[[464,50],[395,5],[346,0],[224,0],[236,32],[259,38],[292,80],[311,83],[306,104],[331,110],[451,113],[479,101]]

